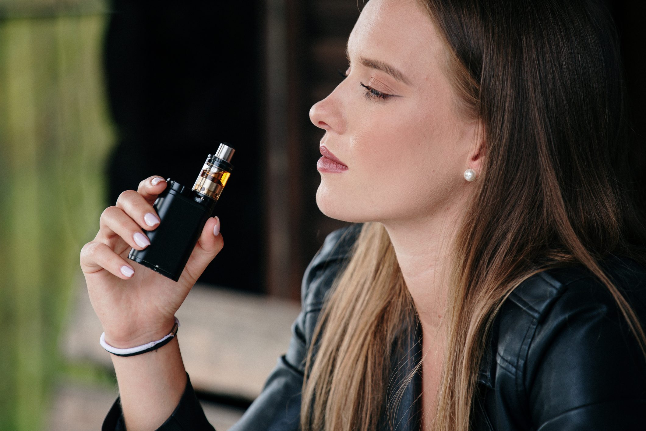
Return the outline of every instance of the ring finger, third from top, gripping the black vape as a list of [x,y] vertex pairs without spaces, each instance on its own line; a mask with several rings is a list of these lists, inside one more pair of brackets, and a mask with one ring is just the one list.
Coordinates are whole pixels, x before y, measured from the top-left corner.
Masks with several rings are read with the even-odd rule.
[[99,233],[96,240],[114,248],[115,240],[118,238],[138,250],[143,250],[151,244],[140,226],[123,212],[123,209],[116,206],[107,207],[99,218]]

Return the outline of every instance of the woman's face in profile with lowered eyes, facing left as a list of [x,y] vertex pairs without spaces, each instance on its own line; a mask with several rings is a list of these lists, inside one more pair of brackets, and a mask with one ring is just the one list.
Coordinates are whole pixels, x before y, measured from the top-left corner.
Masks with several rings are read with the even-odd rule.
[[445,49],[415,0],[366,3],[348,38],[347,78],[309,110],[326,131],[320,144],[348,166],[319,170],[317,204],[325,215],[347,222],[423,218],[467,193],[464,170],[479,172],[481,163],[477,127],[457,112]]

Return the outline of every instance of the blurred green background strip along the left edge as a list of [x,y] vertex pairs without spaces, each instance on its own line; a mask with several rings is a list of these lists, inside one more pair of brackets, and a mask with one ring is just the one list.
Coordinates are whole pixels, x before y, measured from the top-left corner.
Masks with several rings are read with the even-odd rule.
[[114,141],[99,1],[0,2],[0,430],[43,429]]

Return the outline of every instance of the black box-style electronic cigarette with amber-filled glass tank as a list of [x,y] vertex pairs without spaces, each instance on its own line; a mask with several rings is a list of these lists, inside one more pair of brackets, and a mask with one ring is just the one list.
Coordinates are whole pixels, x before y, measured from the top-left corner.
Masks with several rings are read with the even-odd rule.
[[180,279],[233,171],[234,151],[228,143],[220,143],[215,155],[207,157],[192,189],[167,178],[166,188],[152,205],[160,224],[146,231],[151,244],[143,250],[130,249],[128,258],[171,280]]

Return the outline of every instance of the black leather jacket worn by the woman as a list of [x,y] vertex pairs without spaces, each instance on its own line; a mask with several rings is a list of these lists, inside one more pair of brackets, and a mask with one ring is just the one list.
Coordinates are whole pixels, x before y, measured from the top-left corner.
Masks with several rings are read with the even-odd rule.
[[[330,233],[307,266],[302,310],[285,355],[262,393],[231,431],[298,430],[303,360],[335,273],[348,258],[360,224]],[[342,235],[346,233],[346,235]],[[646,269],[613,257],[604,268],[646,322]],[[403,368],[390,390],[420,358],[421,333],[413,331]],[[646,430],[646,361],[607,289],[580,266],[552,269],[525,280],[505,300],[481,363],[472,430]],[[394,428],[419,430],[421,375],[406,386]],[[213,430],[190,380],[159,430]],[[125,430],[119,399],[103,430]]]

